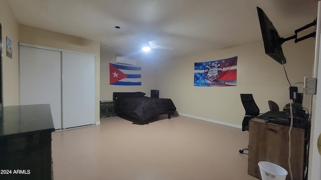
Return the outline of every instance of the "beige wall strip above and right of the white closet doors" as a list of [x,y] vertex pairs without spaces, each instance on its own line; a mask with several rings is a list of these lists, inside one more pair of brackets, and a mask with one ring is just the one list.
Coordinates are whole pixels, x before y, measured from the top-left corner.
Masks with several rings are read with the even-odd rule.
[[96,121],[99,121],[99,41],[84,39],[27,25],[19,25],[19,42],[95,54]]

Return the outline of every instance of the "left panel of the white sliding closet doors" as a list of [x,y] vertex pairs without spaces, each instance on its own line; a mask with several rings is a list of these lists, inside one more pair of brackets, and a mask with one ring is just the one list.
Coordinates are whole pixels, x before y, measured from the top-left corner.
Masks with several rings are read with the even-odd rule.
[[61,129],[61,52],[20,46],[20,104],[49,103],[56,129]]

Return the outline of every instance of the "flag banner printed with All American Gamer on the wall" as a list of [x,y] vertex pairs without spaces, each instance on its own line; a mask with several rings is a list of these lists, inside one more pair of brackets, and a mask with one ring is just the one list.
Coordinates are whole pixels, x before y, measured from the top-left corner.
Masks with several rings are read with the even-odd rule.
[[236,86],[237,56],[195,62],[194,86]]

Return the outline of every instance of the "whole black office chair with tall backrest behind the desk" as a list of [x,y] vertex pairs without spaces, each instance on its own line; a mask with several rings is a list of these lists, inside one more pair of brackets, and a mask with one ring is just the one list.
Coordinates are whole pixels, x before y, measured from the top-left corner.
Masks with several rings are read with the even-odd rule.
[[[256,117],[260,114],[260,109],[256,105],[252,94],[240,94],[241,101],[245,109],[245,115],[242,121],[242,131],[249,130],[249,120],[253,117]],[[241,148],[240,153],[243,153],[244,150],[248,150],[248,147]]]

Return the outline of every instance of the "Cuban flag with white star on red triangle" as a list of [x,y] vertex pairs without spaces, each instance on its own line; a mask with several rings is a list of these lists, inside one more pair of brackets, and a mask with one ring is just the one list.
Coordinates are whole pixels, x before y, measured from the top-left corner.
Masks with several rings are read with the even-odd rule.
[[109,84],[141,85],[141,67],[109,63]]

